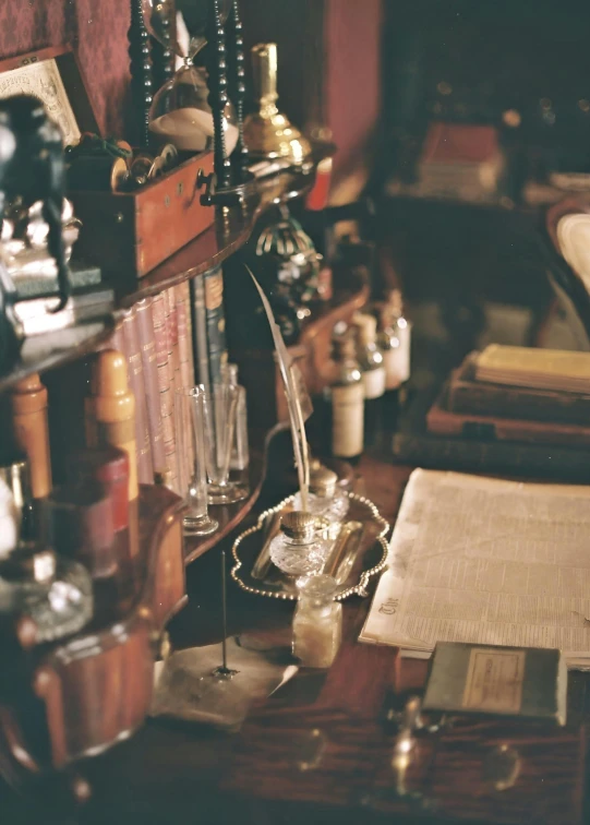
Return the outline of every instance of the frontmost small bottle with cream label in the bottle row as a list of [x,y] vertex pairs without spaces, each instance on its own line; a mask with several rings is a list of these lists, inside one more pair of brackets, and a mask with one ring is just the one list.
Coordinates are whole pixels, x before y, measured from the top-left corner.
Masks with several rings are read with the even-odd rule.
[[364,446],[364,390],[350,332],[334,339],[338,378],[329,387],[332,402],[332,454],[356,462]]

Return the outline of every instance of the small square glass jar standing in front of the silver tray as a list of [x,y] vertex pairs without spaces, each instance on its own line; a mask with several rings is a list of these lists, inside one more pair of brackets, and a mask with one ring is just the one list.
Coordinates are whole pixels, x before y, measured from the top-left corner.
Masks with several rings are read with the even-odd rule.
[[293,656],[305,668],[329,668],[342,638],[342,606],[334,601],[336,579],[326,575],[303,576],[297,586]]

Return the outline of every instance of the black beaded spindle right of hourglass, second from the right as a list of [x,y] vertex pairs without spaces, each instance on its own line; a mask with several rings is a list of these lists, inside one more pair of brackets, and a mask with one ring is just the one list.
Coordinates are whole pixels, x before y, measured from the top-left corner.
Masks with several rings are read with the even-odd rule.
[[214,169],[217,188],[230,186],[231,165],[226,155],[224,110],[228,103],[226,36],[219,13],[219,0],[210,0],[207,20],[207,71],[209,73],[208,104],[214,125]]

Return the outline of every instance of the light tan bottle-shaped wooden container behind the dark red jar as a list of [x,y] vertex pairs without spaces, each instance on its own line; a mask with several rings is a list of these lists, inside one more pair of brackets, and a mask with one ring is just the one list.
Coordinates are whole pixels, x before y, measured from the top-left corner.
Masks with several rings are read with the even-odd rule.
[[111,445],[129,457],[129,501],[135,501],[137,453],[135,445],[135,398],[129,390],[124,356],[115,349],[99,352],[93,364],[91,396],[86,398],[88,446]]

